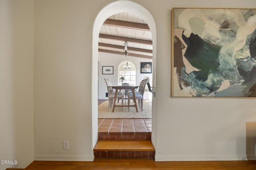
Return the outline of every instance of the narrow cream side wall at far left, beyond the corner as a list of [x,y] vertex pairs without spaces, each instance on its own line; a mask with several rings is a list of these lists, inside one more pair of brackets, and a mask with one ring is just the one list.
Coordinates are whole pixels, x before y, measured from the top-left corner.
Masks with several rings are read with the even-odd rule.
[[0,25],[0,161],[12,161],[0,170],[25,168],[34,160],[34,1],[0,0]]

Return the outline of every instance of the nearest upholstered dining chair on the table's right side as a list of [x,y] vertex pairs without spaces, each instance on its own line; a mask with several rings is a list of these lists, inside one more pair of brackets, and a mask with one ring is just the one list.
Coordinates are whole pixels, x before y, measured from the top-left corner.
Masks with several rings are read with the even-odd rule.
[[[143,95],[144,95],[144,91],[145,91],[145,86],[148,82],[148,78],[143,79],[140,82],[140,87],[138,92],[135,92],[135,97],[136,99],[138,99],[138,106],[141,108],[141,110],[143,111]],[[132,92],[128,92],[128,105],[130,105],[130,100],[133,99],[133,94]],[[134,101],[136,102],[136,101]],[[128,107],[128,110],[130,111],[130,107]]]

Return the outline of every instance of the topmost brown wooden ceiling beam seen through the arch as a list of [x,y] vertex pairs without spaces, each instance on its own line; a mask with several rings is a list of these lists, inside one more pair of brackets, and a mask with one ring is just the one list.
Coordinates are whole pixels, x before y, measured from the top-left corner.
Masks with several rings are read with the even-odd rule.
[[114,26],[114,27],[122,27],[122,28],[131,28],[131,29],[139,29],[144,31],[150,31],[148,24],[145,23],[136,23],[130,21],[121,21],[121,20],[112,20],[107,19],[103,25]]

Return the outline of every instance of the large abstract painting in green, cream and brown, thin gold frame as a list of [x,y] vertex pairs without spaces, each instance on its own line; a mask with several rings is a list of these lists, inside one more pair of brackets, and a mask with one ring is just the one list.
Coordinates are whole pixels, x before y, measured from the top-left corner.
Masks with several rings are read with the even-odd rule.
[[172,97],[256,97],[256,9],[172,9]]

